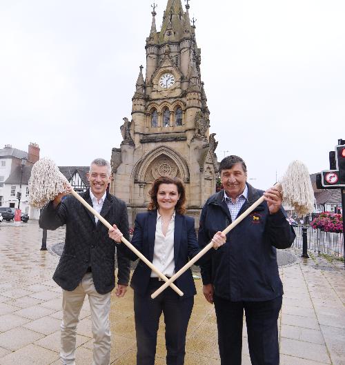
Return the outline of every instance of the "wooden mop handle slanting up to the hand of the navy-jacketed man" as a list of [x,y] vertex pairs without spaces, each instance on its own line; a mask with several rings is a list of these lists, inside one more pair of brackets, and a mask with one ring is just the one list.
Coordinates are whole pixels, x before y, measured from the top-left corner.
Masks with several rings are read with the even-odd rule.
[[[253,212],[253,210],[259,206],[260,204],[262,204],[262,202],[265,200],[265,197],[262,196],[259,199],[257,199],[257,201],[255,201],[255,203],[253,205],[251,205],[244,213],[242,213],[242,215],[240,215],[237,219],[235,219],[235,221],[233,221],[233,223],[229,224],[222,233],[224,233],[224,235],[226,235],[227,233],[230,232],[230,230],[232,230],[235,226],[237,226],[237,224],[239,224],[240,221],[242,221],[244,218],[246,218],[246,216]],[[190,266],[192,266],[201,256],[205,255],[205,253],[207,253],[208,250],[210,250],[210,248],[213,247],[213,242],[210,241],[210,243],[205,246],[197,255],[195,255],[195,257],[193,257],[193,259],[191,259],[190,261],[188,261],[188,263],[183,267],[180,268],[179,271],[177,271],[177,273],[175,275],[172,275],[172,277],[170,277],[170,279],[168,279],[167,282],[165,282],[160,288],[158,288],[155,293],[152,293],[151,298],[155,299],[155,297],[157,297],[157,295],[159,295],[164,289],[166,289],[172,282],[174,282],[177,277],[181,276],[186,270],[188,270],[188,268],[190,268]]]

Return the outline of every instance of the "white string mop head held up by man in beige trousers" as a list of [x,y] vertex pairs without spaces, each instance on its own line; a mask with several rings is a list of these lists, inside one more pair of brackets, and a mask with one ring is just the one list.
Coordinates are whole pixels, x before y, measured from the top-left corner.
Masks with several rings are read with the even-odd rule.
[[48,201],[65,191],[64,183],[68,182],[57,165],[51,159],[39,159],[32,166],[29,179],[29,204],[43,208]]

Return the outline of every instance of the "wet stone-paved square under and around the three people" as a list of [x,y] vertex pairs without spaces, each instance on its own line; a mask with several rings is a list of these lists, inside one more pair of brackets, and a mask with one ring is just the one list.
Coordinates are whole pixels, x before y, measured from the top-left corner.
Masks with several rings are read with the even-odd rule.
[[[59,257],[51,248],[61,243],[64,229],[48,231],[48,251],[41,251],[37,221],[15,227],[0,224],[0,365],[58,365],[61,289],[52,281]],[[300,255],[288,250],[289,255]],[[279,268],[284,300],[279,316],[282,365],[345,365],[345,272],[341,262],[313,254]],[[220,365],[213,306],[195,281],[197,295],[188,326],[186,365]],[[111,364],[135,365],[132,290],[112,296]],[[77,328],[77,365],[92,362],[88,301]],[[164,365],[164,322],[159,327],[156,365]],[[244,319],[243,365],[250,364]]]

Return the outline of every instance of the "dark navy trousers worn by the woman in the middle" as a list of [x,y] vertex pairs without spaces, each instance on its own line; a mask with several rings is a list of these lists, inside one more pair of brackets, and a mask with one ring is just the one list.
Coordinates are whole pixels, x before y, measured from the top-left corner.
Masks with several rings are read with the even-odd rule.
[[155,365],[157,331],[162,312],[166,324],[166,365],[184,364],[186,333],[194,297],[179,297],[169,287],[151,299],[150,295],[163,284],[156,278],[150,279],[147,295],[143,297],[134,293],[137,365]]

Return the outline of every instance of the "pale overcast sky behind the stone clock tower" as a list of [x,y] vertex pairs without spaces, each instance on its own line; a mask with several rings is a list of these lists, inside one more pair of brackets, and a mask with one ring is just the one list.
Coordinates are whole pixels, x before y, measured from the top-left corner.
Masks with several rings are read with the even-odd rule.
[[[184,1],[182,1],[184,3]],[[146,66],[150,0],[0,0],[0,148],[59,166],[110,159]],[[156,0],[157,28],[167,0]],[[329,168],[345,139],[344,0],[190,0],[216,153],[268,188]]]

